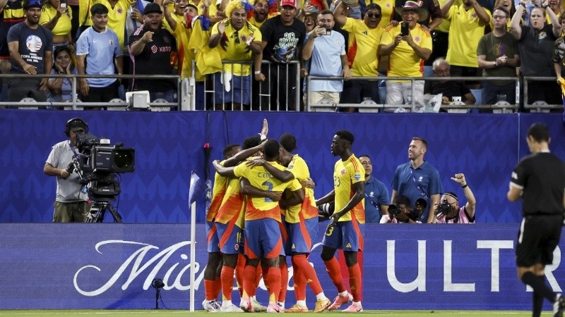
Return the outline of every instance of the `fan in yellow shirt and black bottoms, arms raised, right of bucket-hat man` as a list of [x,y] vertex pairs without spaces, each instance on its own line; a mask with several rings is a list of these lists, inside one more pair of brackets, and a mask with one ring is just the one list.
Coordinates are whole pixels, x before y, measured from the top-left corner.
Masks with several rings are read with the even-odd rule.
[[[477,46],[484,35],[484,27],[489,24],[491,13],[477,0],[463,0],[454,5],[455,0],[447,0],[441,6],[441,13],[449,24],[449,46],[446,61],[451,65],[451,75],[455,77],[476,77],[482,75],[477,63]],[[478,88],[479,82],[468,82]]]

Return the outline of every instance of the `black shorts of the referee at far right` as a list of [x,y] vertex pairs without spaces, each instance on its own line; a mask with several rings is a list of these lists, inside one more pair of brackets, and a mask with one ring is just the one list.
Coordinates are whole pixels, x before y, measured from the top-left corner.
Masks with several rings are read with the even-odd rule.
[[518,231],[516,266],[528,268],[537,263],[551,264],[562,226],[561,215],[525,216]]

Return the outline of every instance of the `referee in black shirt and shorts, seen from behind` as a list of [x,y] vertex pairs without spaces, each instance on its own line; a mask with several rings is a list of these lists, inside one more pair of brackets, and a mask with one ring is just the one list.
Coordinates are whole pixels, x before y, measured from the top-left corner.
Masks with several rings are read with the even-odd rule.
[[540,316],[543,299],[553,304],[554,317],[563,316],[565,297],[545,284],[545,266],[553,261],[565,211],[565,163],[549,152],[549,129],[534,123],[526,142],[532,154],[514,168],[509,201],[523,199],[523,219],[518,231],[518,278],[533,288],[532,316]]

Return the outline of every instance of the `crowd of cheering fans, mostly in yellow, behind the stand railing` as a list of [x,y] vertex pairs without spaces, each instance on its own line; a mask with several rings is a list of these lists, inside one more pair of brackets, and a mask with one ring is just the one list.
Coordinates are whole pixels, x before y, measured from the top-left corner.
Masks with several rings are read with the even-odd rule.
[[[310,104],[401,105],[442,93],[443,104],[469,105],[470,89],[482,90],[482,104],[561,104],[565,6],[539,1],[1,0],[0,70],[32,75],[9,80],[13,102],[73,99],[71,79],[37,74],[131,74],[194,77],[197,109],[304,110],[296,97],[305,90]],[[556,72],[557,82],[528,81],[521,101],[515,80],[375,79]],[[334,79],[306,87],[298,74]],[[81,78],[77,90],[91,102],[141,90],[179,99],[174,80],[143,77]]]

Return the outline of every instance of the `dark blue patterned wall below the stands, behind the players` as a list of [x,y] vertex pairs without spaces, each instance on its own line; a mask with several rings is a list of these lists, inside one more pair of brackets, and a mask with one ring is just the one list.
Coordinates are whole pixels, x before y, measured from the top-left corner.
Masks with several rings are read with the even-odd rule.
[[[369,154],[374,176],[390,185],[396,166],[408,161],[414,136],[429,143],[426,159],[438,168],[445,191],[463,196],[449,178],[465,173],[477,197],[477,222],[516,223],[520,204],[509,204],[510,173],[528,153],[525,131],[536,121],[552,128],[552,151],[565,157],[559,114],[445,113],[258,113],[258,112],[118,112],[0,111],[0,222],[47,223],[52,219],[55,180],[42,173],[53,144],[65,138],[64,123],[80,116],[90,132],[136,148],[136,171],[121,175],[119,212],[126,223],[187,223],[191,170],[205,175],[203,144],[222,158],[226,144],[240,143],[269,121],[269,137],[297,136],[297,153],[309,163],[316,197],[332,189],[330,153],[335,131],[355,135],[355,154]],[[212,176],[213,177],[213,176]],[[390,190],[390,188],[389,188]],[[464,203],[464,202],[463,202]],[[197,201],[198,221],[204,201]],[[107,216],[108,218],[108,216]],[[111,217],[110,217],[111,218]],[[109,219],[107,219],[109,220]]]

